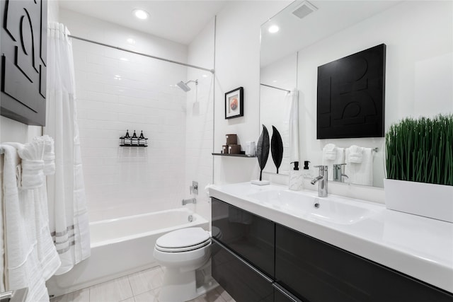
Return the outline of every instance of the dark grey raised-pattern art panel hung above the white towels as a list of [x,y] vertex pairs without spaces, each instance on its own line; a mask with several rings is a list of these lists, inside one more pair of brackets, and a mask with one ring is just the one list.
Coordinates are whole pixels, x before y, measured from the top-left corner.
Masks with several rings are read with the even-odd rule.
[[1,115],[45,125],[47,0],[1,0]]

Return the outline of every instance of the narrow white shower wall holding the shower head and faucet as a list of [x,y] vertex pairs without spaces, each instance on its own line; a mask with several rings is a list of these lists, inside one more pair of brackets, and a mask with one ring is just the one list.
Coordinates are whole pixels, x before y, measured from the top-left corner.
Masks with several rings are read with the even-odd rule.
[[[214,18],[188,45],[188,63],[214,69]],[[188,205],[206,219],[211,217],[210,199],[205,187],[212,183],[212,140],[214,127],[214,75],[210,71],[188,68],[187,80],[198,85],[187,93],[185,126],[185,183],[184,198],[190,197],[189,186],[198,182],[197,204]]]

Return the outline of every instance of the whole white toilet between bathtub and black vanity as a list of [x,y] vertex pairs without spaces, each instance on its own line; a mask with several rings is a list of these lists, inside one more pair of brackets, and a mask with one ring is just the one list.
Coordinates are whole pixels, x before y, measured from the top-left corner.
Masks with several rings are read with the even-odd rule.
[[200,227],[181,228],[159,237],[153,255],[164,268],[160,302],[192,300],[218,285],[211,276],[210,233]]

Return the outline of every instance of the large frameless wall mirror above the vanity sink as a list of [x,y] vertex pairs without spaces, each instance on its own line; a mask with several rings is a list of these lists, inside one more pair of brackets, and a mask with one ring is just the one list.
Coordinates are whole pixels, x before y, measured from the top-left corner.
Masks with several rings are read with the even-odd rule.
[[[406,116],[451,113],[452,12],[451,1],[292,2],[261,26],[260,124],[272,129],[272,123],[285,119],[287,92],[277,88],[297,89],[300,162],[310,161],[311,166],[325,162],[326,149],[333,145],[343,151],[353,145],[377,150],[372,151],[371,182],[352,174],[340,179],[383,187],[383,137],[316,139],[318,67],[384,43],[385,130]],[[273,26],[279,30],[270,33]],[[353,167],[346,165],[345,174],[354,173]],[[284,161],[280,173],[288,170],[289,162]],[[265,172],[275,173],[272,159]],[[329,170],[330,180],[332,176]]]

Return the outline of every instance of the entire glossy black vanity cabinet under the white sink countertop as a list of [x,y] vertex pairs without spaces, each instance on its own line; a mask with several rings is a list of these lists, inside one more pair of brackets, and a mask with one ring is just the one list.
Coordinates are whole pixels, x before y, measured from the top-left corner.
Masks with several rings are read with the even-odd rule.
[[212,227],[212,276],[236,302],[453,302],[447,291],[215,198]]

